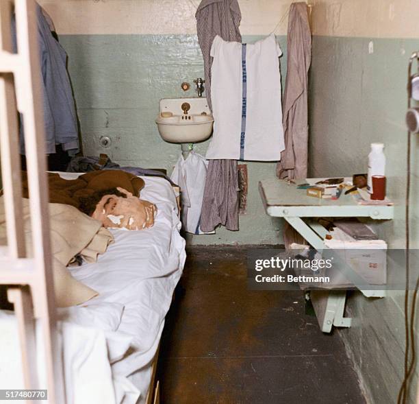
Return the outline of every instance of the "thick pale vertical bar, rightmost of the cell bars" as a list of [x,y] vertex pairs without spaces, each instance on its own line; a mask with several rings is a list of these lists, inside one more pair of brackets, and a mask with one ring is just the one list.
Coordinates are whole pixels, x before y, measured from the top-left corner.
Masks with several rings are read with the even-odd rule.
[[34,0],[16,0],[18,53],[23,63],[15,71],[18,109],[23,113],[25,154],[29,183],[32,246],[37,284],[36,313],[42,325],[47,388],[51,403],[65,403],[58,335],[55,332],[55,296],[49,235],[47,164],[45,156],[42,87],[38,56],[37,5]]

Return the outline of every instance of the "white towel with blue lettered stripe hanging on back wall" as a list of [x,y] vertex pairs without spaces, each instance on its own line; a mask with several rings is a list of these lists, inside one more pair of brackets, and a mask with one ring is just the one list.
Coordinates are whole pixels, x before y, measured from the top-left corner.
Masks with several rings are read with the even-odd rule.
[[282,51],[271,34],[254,44],[212,43],[214,134],[206,157],[279,161],[284,150]]

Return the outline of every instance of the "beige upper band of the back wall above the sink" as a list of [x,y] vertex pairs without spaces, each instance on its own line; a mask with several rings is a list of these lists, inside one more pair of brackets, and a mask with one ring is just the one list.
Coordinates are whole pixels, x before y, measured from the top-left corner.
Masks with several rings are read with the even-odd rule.
[[[0,0],[1,1],[1,0]],[[59,34],[196,34],[199,0],[38,0]],[[290,1],[239,0],[242,34],[270,34]],[[285,34],[288,20],[275,29]]]

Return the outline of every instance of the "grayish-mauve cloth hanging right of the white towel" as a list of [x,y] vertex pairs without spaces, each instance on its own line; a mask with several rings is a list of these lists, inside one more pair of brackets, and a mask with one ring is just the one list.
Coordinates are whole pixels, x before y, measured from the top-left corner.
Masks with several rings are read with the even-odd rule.
[[292,3],[288,17],[287,76],[283,95],[285,150],[277,164],[279,178],[307,177],[308,71],[312,34],[306,3]]

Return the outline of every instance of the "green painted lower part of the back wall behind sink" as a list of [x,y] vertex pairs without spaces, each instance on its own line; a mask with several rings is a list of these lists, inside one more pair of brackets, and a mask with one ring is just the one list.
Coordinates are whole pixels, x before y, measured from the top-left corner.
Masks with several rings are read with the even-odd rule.
[[[259,36],[245,36],[253,42]],[[278,37],[286,54],[286,38]],[[164,142],[155,126],[161,98],[196,96],[181,91],[181,82],[203,77],[203,60],[196,35],[66,35],[60,41],[68,53],[81,123],[84,152],[107,153],[122,165],[162,167],[171,172],[180,146]],[[285,75],[285,57],[281,58]],[[112,145],[103,148],[101,136]],[[207,142],[195,150],[205,155]],[[257,182],[275,175],[275,163],[247,163],[249,197],[240,230],[219,228],[216,235],[188,237],[194,244],[281,243],[281,222],[264,212]]]

